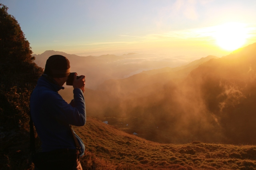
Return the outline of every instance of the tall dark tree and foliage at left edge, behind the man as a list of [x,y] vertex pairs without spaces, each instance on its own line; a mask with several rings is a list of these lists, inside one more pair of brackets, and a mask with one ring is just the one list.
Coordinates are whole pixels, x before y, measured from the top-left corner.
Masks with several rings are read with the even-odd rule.
[[0,4],[0,165],[28,170],[29,99],[43,69],[33,62],[30,44],[7,9]]

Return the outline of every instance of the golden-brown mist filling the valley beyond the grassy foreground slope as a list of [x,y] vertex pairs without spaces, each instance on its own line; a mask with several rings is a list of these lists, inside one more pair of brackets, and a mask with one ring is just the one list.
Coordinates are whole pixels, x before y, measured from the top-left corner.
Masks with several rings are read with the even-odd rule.
[[255,144],[255,47],[105,80],[86,88],[86,113],[160,143]]

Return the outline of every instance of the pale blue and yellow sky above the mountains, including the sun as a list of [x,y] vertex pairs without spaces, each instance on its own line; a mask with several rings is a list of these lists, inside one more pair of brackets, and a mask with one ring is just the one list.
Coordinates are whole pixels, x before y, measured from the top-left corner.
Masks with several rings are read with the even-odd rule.
[[[255,0],[0,0],[34,54],[222,57],[256,42]],[[226,47],[230,45],[230,47]]]

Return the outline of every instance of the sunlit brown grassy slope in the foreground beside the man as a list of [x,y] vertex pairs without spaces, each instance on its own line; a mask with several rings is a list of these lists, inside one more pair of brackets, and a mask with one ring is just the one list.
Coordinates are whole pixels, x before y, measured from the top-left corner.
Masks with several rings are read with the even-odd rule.
[[84,169],[256,169],[256,146],[154,143],[91,117],[84,127],[74,129],[86,145]]

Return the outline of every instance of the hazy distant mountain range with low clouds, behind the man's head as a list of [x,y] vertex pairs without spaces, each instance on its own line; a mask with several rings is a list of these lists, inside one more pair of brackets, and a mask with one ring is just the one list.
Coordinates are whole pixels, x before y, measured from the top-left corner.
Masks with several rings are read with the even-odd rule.
[[86,76],[86,87],[91,89],[96,89],[105,80],[126,78],[142,70],[174,65],[173,59],[162,61],[154,56],[136,53],[129,53],[128,55],[122,56],[108,54],[81,57],[53,50],[45,51],[40,55],[33,55],[36,58],[34,62],[44,68],[46,60],[51,55],[63,55],[67,57],[70,61],[71,71],[84,74]]

